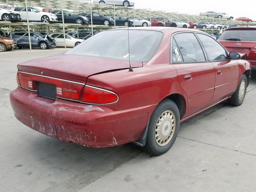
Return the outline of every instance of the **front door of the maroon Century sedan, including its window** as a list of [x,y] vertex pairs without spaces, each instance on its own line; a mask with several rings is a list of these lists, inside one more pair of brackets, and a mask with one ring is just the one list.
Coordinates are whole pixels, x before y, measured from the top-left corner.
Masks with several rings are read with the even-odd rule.
[[237,87],[240,78],[238,63],[230,60],[226,50],[212,37],[197,33],[206,51],[208,60],[215,68],[215,90],[212,104],[215,104],[230,96]]

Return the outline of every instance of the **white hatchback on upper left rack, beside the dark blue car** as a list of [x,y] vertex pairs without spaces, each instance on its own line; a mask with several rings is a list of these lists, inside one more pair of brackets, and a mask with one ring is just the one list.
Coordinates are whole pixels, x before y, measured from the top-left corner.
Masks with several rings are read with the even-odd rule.
[[[27,20],[26,7],[12,7],[10,10],[20,13],[22,21]],[[29,21],[41,21],[44,23],[57,22],[58,18],[55,14],[42,12],[34,7],[28,7],[28,20]]]

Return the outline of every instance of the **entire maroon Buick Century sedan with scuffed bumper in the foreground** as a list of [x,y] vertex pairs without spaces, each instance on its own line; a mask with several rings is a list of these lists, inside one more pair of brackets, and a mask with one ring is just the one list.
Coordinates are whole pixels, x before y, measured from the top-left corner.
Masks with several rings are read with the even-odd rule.
[[48,136],[90,147],[134,142],[160,155],[180,122],[224,100],[242,104],[251,66],[241,57],[197,30],[108,30],[48,62],[19,64],[10,102],[20,122]]

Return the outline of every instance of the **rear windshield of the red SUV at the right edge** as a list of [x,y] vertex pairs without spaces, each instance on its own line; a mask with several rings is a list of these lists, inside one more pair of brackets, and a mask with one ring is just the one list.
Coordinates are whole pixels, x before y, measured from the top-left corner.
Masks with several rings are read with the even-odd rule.
[[256,41],[255,30],[226,30],[220,36],[220,40],[230,41]]

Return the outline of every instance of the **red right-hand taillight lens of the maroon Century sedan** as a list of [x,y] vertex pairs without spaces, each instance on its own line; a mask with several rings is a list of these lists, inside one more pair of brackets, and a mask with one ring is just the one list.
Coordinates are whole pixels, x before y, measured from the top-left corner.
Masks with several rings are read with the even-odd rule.
[[118,95],[112,91],[86,85],[84,87],[80,102],[86,104],[106,105],[118,101]]

